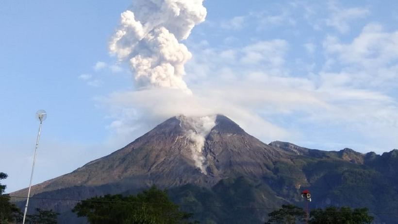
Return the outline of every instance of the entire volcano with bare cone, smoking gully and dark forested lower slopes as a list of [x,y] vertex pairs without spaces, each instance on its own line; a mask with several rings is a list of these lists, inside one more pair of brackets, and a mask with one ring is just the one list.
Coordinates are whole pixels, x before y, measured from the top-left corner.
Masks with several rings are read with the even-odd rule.
[[[385,208],[393,210],[398,207],[397,164],[398,150],[365,155],[351,149],[311,150],[280,141],[265,144],[223,115],[180,115],[110,155],[33,186],[32,193],[37,198],[85,199],[156,185],[167,188],[175,202],[195,205],[184,209],[204,223],[261,223],[272,211],[266,208],[302,203],[299,192],[304,188],[312,191],[316,207],[376,209],[388,201]],[[23,189],[11,195],[26,194]],[[60,223],[84,222],[70,212],[74,204],[33,199],[30,209],[54,209],[61,213]]]

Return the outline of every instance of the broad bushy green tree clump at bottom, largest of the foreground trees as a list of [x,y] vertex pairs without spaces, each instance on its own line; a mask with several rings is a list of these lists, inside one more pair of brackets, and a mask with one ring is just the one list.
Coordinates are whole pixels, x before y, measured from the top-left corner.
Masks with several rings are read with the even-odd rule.
[[191,214],[179,210],[166,190],[152,186],[137,195],[105,195],[78,203],[72,210],[78,217],[87,217],[91,224],[177,224]]

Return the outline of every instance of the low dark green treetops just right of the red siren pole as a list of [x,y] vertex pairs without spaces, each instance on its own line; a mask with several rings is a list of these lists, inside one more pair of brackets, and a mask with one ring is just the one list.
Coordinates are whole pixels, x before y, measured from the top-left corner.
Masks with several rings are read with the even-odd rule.
[[310,213],[310,224],[370,224],[373,217],[367,214],[368,209],[350,207],[326,207],[324,210],[318,208]]

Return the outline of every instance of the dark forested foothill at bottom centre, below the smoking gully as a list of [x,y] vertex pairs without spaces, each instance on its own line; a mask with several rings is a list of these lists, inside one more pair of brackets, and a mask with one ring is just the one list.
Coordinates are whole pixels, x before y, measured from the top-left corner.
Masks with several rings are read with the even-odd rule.
[[184,211],[193,213],[203,224],[259,223],[266,211],[255,207],[281,205],[267,185],[246,177],[223,179],[212,188],[188,184],[168,192],[174,202],[187,205]]

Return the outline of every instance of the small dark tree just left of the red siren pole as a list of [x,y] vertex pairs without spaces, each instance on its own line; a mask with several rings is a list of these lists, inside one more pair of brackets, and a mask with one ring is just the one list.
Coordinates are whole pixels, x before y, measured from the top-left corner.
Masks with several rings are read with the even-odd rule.
[[268,214],[269,219],[265,224],[295,224],[304,222],[307,214],[301,207],[295,205],[282,205],[282,208]]

